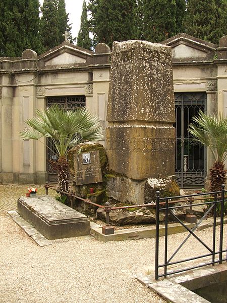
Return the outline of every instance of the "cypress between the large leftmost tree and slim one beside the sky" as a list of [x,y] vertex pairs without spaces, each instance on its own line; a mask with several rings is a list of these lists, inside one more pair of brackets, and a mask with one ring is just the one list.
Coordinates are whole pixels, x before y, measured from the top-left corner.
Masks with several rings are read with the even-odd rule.
[[58,1],[44,0],[41,11],[40,36],[42,45],[47,51],[60,44]]

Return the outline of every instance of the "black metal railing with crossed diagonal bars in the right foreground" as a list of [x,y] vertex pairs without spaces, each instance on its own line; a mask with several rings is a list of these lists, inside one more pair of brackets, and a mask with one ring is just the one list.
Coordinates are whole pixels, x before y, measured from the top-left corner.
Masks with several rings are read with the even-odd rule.
[[[182,206],[174,206],[173,200],[179,200],[179,202],[182,202],[182,199],[187,200],[187,205]],[[171,200],[171,201],[170,201]],[[197,203],[197,201],[202,200],[202,202]],[[185,196],[177,196],[177,197],[169,197],[169,198],[160,198],[160,192],[157,191],[157,197],[156,197],[156,244],[155,244],[155,280],[158,280],[160,277],[167,277],[167,275],[172,275],[179,272],[184,272],[187,270],[192,270],[198,267],[206,266],[206,265],[214,265],[215,263],[221,264],[223,261],[227,261],[226,256],[226,246],[223,248],[223,226],[224,226],[224,203],[227,199],[225,198],[225,190],[224,185],[221,186],[220,191],[216,192],[208,192],[208,193],[200,193],[200,194],[192,194],[192,195],[185,195]],[[164,202],[164,205],[163,205]],[[172,202],[172,203],[171,203]],[[198,223],[195,224],[195,226],[190,229],[184,222],[182,222],[174,213],[174,209],[182,209],[182,208],[189,208],[192,209],[195,206],[207,206],[207,209],[204,212],[204,215],[201,219],[199,219]],[[164,232],[164,263],[159,264],[159,214],[161,212],[165,213],[165,232]],[[216,233],[216,226],[217,226],[217,213],[220,215],[220,232],[219,232],[219,248],[216,247],[217,243],[217,233]],[[168,215],[171,214],[177,222],[179,222],[186,231],[189,232],[185,240],[178,246],[178,248],[175,250],[174,254],[171,257],[168,256]],[[202,221],[207,218],[209,214],[212,214],[213,218],[213,237],[212,237],[212,243],[209,247],[204,241],[202,241],[196,234],[195,231],[198,229]],[[162,225],[163,226],[163,225]],[[177,255],[178,251],[181,249],[181,247],[185,244],[185,242],[189,239],[190,236],[194,236],[203,246],[208,250],[208,254],[204,254],[201,256],[195,256],[193,258],[188,258],[184,260],[178,260],[173,261],[173,258]],[[226,242],[225,244],[226,245]],[[225,253],[225,254],[224,254]],[[187,268],[179,269],[176,271],[169,270],[169,266],[173,266],[175,264],[183,263],[183,262],[189,262],[200,258],[208,257],[209,261],[207,261],[207,258],[205,259],[205,262],[200,265],[191,266],[187,264]],[[210,258],[209,258],[210,257]],[[215,258],[216,257],[216,258]],[[160,270],[162,269],[162,273],[160,273]]]

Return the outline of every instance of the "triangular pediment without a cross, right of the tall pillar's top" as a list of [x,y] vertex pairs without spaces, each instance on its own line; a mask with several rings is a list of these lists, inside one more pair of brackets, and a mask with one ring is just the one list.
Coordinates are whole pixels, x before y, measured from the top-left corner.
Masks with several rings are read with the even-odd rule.
[[174,61],[212,60],[217,45],[187,34],[178,34],[162,42],[172,47]]

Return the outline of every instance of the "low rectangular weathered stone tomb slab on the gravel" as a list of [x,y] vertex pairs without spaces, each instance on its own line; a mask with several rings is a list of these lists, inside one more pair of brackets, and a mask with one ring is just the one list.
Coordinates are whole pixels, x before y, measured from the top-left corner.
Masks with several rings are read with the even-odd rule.
[[48,195],[20,197],[18,213],[47,239],[89,235],[88,218]]

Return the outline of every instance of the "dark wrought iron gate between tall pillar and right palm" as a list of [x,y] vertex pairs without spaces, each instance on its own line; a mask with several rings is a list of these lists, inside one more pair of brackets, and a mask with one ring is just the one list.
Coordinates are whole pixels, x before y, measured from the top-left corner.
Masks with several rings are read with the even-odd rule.
[[206,148],[193,141],[189,123],[199,111],[206,113],[205,92],[175,93],[176,108],[176,167],[177,182],[181,188],[203,187],[206,176]]

